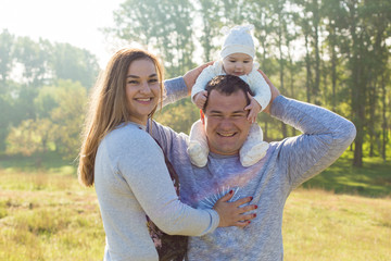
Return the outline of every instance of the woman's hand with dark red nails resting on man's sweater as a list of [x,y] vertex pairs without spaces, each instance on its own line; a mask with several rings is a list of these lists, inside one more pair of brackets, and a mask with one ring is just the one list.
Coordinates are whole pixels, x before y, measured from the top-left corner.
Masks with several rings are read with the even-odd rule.
[[213,209],[217,211],[219,215],[219,223],[218,223],[219,227],[224,227],[224,226],[244,227],[251,223],[250,220],[256,216],[255,213],[248,213],[248,214],[244,213],[257,209],[257,206],[249,204],[240,208],[240,206],[250,202],[252,200],[252,197],[247,197],[247,198],[238,199],[237,201],[234,202],[228,202],[228,200],[230,200],[232,196],[234,196],[234,191],[230,190],[227,195],[225,195],[219,200],[217,200],[217,202],[213,207]]

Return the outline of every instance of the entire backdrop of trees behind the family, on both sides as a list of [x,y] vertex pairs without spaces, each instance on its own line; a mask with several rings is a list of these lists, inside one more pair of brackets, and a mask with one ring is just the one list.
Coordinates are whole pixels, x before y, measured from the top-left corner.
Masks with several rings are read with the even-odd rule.
[[[218,59],[223,26],[253,24],[256,61],[281,94],[352,120],[354,165],[390,156],[389,0],[127,0],[108,37],[138,42],[164,61],[166,77]],[[68,44],[0,34],[0,151],[58,151],[75,159],[97,59]],[[189,132],[189,99],[156,119]],[[299,132],[258,115],[266,140]]]

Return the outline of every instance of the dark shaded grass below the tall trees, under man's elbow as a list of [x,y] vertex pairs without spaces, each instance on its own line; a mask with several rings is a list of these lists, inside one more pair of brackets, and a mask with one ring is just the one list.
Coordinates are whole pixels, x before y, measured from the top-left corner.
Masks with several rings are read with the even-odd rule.
[[365,158],[363,167],[354,167],[351,152],[345,152],[335,164],[302,186],[323,188],[336,194],[390,197],[391,163],[379,158]]

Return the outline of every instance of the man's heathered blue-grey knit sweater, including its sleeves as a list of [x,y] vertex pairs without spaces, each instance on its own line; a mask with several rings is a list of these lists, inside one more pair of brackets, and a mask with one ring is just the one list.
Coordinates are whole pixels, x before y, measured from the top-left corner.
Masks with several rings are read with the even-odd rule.
[[[171,101],[186,91],[173,91],[165,83]],[[186,86],[182,84],[182,88]],[[245,228],[218,227],[201,237],[191,237],[189,260],[282,260],[282,212],[289,194],[303,182],[333,163],[355,137],[354,125],[324,108],[277,97],[272,116],[303,134],[270,142],[267,154],[243,167],[239,156],[210,153],[207,165],[197,167],[186,152],[188,136],[153,123],[153,136],[163,146],[180,179],[180,196],[194,208],[210,209],[229,189],[235,198],[254,197],[257,216]]]

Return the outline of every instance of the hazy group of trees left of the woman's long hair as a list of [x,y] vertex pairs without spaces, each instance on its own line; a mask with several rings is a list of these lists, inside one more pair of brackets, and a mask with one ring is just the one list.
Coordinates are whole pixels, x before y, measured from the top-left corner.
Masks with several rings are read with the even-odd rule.
[[75,159],[97,58],[68,44],[0,34],[0,151]]

